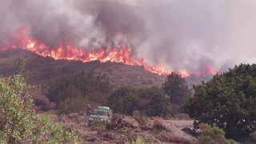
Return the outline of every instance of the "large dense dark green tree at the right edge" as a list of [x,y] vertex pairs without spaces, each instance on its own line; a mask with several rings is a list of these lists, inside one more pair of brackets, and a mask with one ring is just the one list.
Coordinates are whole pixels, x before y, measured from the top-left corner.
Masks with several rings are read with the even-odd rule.
[[256,130],[255,103],[256,65],[241,64],[194,86],[186,113],[198,122],[222,128],[227,138],[238,138]]

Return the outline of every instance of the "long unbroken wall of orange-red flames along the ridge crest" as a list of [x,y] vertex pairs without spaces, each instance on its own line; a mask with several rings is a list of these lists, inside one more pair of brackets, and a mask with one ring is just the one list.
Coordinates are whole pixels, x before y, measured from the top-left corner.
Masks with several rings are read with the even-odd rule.
[[[119,48],[112,47],[107,49],[106,47],[102,47],[95,51],[86,51],[82,48],[73,46],[72,44],[60,44],[57,48],[50,48],[44,43],[30,38],[28,34],[26,34],[26,28],[22,27],[22,29],[19,30],[19,33],[14,37],[14,43],[8,47],[30,50],[43,57],[51,57],[54,59],[76,60],[81,62],[90,62],[94,60],[100,62],[122,62],[131,66],[143,66],[145,70],[155,74],[170,74],[170,70],[166,70],[166,68],[160,64],[157,66],[150,66],[144,62],[143,58],[138,59],[132,57],[131,49],[127,47],[125,43],[122,43]],[[8,48],[0,48],[0,50],[7,49]]]

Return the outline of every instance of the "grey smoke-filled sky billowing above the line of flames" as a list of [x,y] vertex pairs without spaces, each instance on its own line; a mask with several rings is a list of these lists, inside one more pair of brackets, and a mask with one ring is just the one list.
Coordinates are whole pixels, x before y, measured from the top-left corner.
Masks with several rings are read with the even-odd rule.
[[26,26],[50,47],[94,50],[122,38],[170,70],[256,62],[254,0],[0,0],[0,18],[0,46]]

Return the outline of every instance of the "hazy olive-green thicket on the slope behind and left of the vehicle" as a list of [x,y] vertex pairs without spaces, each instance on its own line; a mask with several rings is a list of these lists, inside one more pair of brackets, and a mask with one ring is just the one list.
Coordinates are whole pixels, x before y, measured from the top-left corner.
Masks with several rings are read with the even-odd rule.
[[78,72],[50,83],[48,98],[64,113],[84,110],[87,103],[107,102],[112,87],[106,75]]

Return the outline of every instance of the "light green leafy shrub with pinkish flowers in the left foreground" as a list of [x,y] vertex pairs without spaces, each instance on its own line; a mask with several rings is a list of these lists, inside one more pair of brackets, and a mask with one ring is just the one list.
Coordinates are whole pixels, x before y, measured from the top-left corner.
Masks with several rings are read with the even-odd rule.
[[22,77],[0,78],[0,143],[74,142],[74,131],[39,118],[30,109],[32,98],[22,93],[28,88]]

